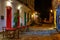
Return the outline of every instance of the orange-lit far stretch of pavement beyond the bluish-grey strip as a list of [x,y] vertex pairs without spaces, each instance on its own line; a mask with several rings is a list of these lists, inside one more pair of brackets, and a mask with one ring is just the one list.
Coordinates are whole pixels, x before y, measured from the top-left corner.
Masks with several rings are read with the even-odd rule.
[[53,28],[55,28],[55,25],[54,24],[42,24],[41,26],[40,25],[34,25],[34,26],[31,26],[29,27],[31,30],[45,30],[45,29],[48,29],[48,30],[52,30]]

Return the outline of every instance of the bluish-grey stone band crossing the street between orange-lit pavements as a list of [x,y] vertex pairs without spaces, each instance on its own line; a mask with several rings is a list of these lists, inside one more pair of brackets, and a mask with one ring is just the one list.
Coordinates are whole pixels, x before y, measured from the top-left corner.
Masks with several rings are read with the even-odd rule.
[[53,34],[53,33],[57,33],[56,30],[37,30],[37,31],[34,31],[34,30],[30,30],[29,32],[24,32],[24,34],[27,34],[27,35],[50,35],[50,34]]

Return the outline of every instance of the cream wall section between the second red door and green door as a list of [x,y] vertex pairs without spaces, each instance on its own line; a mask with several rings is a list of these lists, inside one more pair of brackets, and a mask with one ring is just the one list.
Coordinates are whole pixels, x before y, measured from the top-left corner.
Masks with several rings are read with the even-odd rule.
[[22,23],[22,26],[25,26],[24,25],[24,12],[29,13],[29,11],[31,10],[28,7],[26,7],[25,5],[22,5],[20,9],[20,23]]

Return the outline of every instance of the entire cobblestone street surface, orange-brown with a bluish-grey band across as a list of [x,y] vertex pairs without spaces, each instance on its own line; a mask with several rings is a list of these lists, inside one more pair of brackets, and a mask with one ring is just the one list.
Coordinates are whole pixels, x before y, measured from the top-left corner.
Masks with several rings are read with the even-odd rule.
[[[46,25],[44,25],[46,26]],[[46,26],[47,27],[47,26]],[[49,26],[50,27],[50,26]],[[49,28],[47,27],[47,28]],[[18,38],[3,38],[3,34],[0,34],[0,40],[60,40],[60,34],[56,33],[55,29],[50,30],[42,30],[45,27],[30,27],[29,32],[24,32],[23,34],[19,34]]]

